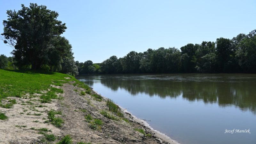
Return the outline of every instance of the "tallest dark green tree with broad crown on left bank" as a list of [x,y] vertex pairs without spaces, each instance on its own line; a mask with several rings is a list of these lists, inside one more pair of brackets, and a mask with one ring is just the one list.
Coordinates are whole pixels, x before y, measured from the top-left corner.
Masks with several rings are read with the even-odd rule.
[[24,4],[21,7],[19,11],[6,12],[8,19],[3,21],[4,32],[1,34],[4,43],[14,47],[12,54],[18,66],[32,65],[32,69],[40,69],[44,64],[60,65],[59,62],[52,63],[60,52],[50,43],[67,28],[65,23],[57,20],[59,14],[44,5],[30,3],[29,7]]

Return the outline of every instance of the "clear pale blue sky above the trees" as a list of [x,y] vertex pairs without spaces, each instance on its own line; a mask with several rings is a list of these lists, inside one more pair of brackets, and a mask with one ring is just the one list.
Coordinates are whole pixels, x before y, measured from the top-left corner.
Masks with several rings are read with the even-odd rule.
[[[0,20],[20,4],[43,4],[59,12],[75,60],[102,62],[112,55],[148,48],[180,48],[188,43],[233,38],[256,29],[255,0],[0,0]],[[2,22],[1,22],[2,23]],[[3,25],[0,25],[0,33]],[[0,42],[0,54],[12,48]]]

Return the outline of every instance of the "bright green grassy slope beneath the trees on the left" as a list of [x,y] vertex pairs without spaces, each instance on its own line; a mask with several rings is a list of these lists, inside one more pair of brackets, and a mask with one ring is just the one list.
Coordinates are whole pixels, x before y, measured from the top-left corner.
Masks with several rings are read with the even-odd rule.
[[36,93],[50,88],[50,84],[62,85],[59,80],[67,80],[66,74],[44,71],[21,71],[0,69],[0,100],[9,96],[21,97],[26,93]]

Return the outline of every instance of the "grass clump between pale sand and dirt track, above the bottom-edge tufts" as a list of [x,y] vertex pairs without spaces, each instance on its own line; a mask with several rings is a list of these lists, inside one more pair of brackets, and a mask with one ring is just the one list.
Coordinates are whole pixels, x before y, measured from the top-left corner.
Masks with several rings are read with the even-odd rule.
[[62,124],[64,123],[64,120],[60,117],[55,117],[55,115],[62,115],[62,112],[61,111],[50,110],[48,112],[48,119],[54,126],[61,127]]

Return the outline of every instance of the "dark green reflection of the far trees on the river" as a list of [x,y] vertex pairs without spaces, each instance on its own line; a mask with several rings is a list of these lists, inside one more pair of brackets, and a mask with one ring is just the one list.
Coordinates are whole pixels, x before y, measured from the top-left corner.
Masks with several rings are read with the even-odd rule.
[[177,75],[102,75],[78,76],[86,84],[100,82],[112,91],[124,89],[136,96],[176,98],[188,101],[218,103],[220,107],[236,106],[256,114],[256,75],[246,74],[177,74]]

